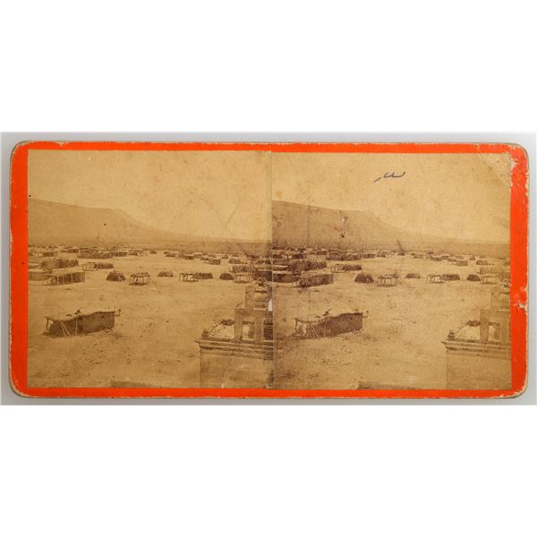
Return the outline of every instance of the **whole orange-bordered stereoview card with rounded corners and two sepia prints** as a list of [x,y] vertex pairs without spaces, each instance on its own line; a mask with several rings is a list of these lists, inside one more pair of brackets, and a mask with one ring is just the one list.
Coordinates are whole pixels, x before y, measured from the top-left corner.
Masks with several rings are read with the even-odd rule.
[[519,395],[527,176],[507,144],[23,143],[13,389]]

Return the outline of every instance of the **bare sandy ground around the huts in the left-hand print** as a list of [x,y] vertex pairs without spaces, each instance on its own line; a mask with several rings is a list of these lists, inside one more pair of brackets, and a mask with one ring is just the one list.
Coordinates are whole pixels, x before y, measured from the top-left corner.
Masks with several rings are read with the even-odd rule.
[[[62,254],[62,257],[75,257]],[[83,262],[92,260],[79,260]],[[244,286],[220,280],[227,260],[211,266],[200,260],[168,258],[163,251],[144,257],[113,258],[128,277],[147,271],[148,286],[107,281],[110,270],[86,272],[85,283],[44,286],[30,281],[28,380],[32,387],[199,386],[204,328],[232,319],[243,302]],[[160,270],[175,277],[157,277]],[[179,281],[179,272],[212,272],[213,279]],[[81,310],[121,310],[115,328],[78,337],[47,337],[46,316]]]

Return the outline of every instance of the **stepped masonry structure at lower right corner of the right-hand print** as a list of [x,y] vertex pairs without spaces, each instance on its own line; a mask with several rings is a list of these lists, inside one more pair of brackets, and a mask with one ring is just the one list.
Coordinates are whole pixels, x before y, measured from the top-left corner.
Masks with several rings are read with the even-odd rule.
[[509,287],[491,290],[490,306],[445,341],[447,388],[507,389],[511,386]]

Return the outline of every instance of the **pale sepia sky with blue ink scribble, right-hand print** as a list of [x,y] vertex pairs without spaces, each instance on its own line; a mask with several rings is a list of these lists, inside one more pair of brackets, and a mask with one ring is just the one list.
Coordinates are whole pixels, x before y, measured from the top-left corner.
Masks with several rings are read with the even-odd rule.
[[368,210],[412,232],[507,243],[510,166],[506,154],[273,153],[272,195]]

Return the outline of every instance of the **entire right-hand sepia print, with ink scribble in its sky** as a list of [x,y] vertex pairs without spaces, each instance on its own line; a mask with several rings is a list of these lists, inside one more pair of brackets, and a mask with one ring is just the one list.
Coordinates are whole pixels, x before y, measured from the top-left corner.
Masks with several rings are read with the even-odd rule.
[[511,155],[271,162],[274,388],[511,388]]

